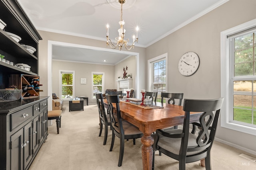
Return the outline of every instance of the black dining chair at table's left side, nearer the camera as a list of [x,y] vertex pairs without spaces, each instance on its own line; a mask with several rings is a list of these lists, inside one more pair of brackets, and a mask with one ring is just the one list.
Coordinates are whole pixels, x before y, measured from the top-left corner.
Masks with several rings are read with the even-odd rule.
[[[133,144],[135,145],[135,139],[142,137],[143,133],[128,121],[122,121],[119,107],[119,98],[117,95],[106,94],[106,98],[108,100],[108,109],[110,111],[110,121],[112,125],[112,141],[109,151],[112,151],[114,147],[115,136],[117,136],[120,139],[118,166],[122,166],[122,160],[124,157],[124,140],[133,139]],[[112,104],[116,105],[115,112]],[[114,114],[116,114],[116,116]]]

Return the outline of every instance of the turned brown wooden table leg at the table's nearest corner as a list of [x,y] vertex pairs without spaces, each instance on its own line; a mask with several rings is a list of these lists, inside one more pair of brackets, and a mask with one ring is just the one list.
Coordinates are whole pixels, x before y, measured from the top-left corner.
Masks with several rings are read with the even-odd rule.
[[142,143],[142,164],[143,170],[152,170],[153,147],[154,139],[151,134],[144,134],[141,138]]

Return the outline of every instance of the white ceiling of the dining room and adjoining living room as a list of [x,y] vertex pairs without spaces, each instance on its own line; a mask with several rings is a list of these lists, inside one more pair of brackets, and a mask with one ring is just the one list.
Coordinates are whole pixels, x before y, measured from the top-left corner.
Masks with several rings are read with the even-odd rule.
[[[228,0],[126,0],[123,4],[125,38],[132,40],[138,25],[139,47],[148,47],[180,27],[196,20]],[[43,31],[64,33],[102,40],[106,44],[106,24],[114,40],[120,28],[121,8],[118,0],[18,0],[36,27]],[[110,2],[110,5],[108,2]],[[113,7],[116,6],[117,8]],[[131,7],[128,7],[131,6]],[[108,47],[110,48],[110,47]],[[53,59],[86,63],[116,64],[126,54],[53,46]],[[103,62],[107,60],[107,62]]]

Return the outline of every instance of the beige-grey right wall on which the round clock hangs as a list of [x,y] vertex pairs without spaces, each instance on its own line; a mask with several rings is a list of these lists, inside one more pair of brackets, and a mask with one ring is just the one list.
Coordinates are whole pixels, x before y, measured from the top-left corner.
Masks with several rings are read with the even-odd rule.
[[[183,92],[184,98],[219,98],[220,32],[255,19],[255,9],[256,0],[230,0],[146,48],[146,60],[168,53],[168,92]],[[178,71],[178,61],[188,51],[198,54],[200,66],[185,77]],[[222,128],[220,123],[216,137],[256,151],[254,135]]]

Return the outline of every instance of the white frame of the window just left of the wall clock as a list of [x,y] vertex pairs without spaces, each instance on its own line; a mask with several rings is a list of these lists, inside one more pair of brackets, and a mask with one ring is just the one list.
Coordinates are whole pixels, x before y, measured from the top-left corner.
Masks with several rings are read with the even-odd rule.
[[168,92],[167,89],[167,82],[168,82],[168,62],[167,62],[167,58],[168,58],[168,53],[164,53],[162,55],[159,55],[157,57],[154,57],[153,59],[149,59],[148,60],[148,90],[149,91],[153,91],[153,80],[154,80],[154,67],[152,66],[152,63],[156,63],[158,61],[162,61],[165,60],[166,62],[166,82],[165,82],[165,86],[166,86],[166,92]]

